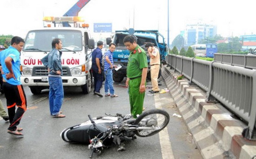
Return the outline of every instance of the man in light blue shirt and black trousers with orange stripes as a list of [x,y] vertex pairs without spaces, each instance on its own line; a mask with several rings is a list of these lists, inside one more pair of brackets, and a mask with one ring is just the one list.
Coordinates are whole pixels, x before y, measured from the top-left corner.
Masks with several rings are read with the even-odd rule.
[[[3,89],[5,92],[10,126],[7,133],[13,135],[23,135],[23,130],[17,127],[20,124],[22,115],[27,110],[27,99],[20,81],[20,51],[24,46],[24,40],[20,37],[13,37],[11,46],[0,52],[0,62],[2,65]],[[15,106],[17,110],[15,112]]]

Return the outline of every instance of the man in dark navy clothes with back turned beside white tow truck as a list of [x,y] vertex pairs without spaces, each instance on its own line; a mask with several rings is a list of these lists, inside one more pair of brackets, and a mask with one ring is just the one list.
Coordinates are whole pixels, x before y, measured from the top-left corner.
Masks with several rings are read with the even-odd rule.
[[103,41],[97,42],[97,48],[92,53],[92,69],[94,76],[94,94],[102,97],[100,90],[103,83],[102,52]]

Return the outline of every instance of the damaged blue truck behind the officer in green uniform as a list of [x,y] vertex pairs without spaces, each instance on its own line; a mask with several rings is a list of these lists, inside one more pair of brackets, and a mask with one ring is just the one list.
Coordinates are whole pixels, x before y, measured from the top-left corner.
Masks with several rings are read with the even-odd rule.
[[[126,69],[128,64],[129,51],[126,49],[123,44],[123,39],[125,36],[129,34],[134,34],[137,37],[137,44],[142,47],[147,53],[148,64],[150,57],[148,55],[148,51],[145,48],[145,43],[151,42],[154,43],[155,46],[160,51],[161,63],[165,61],[165,56],[167,55],[167,46],[164,42],[164,37],[157,30],[133,30],[129,29],[127,31],[115,31],[115,34],[112,38],[107,38],[107,44],[110,42],[115,43],[116,49],[113,52],[113,61],[115,65],[121,65],[121,69],[114,71],[113,80],[115,82],[121,82],[124,77],[126,77]],[[161,69],[159,71],[159,77],[161,76]],[[148,75],[147,79],[150,79],[150,65],[148,65]]]

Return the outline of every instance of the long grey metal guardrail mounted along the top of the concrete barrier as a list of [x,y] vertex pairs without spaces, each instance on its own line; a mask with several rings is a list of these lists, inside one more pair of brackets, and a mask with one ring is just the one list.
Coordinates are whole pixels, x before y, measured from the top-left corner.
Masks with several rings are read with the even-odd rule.
[[256,140],[256,70],[231,66],[229,64],[232,64],[232,60],[230,62],[228,58],[221,57],[228,64],[179,55],[168,55],[166,59],[171,68],[187,77],[190,83],[205,90],[208,101],[210,96],[215,97],[226,108],[247,121],[248,128],[244,129],[243,136]]

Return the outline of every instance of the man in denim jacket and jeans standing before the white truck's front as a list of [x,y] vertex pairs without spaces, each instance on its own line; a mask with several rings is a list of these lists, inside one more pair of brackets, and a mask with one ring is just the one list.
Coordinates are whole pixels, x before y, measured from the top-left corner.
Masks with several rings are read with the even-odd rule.
[[64,90],[63,83],[61,79],[62,66],[61,66],[61,54],[62,41],[59,38],[54,38],[52,41],[53,50],[50,51],[45,57],[41,59],[42,63],[48,68],[49,71],[49,105],[50,113],[55,118],[65,118],[64,114],[60,112],[63,98]]

